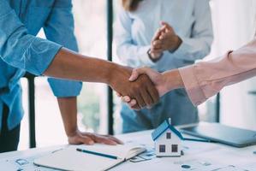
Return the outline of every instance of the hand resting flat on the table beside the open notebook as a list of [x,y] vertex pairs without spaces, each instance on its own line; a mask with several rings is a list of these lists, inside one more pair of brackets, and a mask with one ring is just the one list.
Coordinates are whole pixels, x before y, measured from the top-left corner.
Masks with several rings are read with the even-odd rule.
[[121,140],[110,135],[99,135],[97,133],[81,133],[79,130],[68,135],[69,144],[123,144]]

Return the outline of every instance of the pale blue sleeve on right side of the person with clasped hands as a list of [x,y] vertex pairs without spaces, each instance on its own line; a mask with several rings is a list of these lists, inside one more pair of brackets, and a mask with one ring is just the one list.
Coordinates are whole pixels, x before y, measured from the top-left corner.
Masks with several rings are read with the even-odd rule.
[[213,31],[209,0],[196,0],[193,17],[195,18],[191,37],[180,36],[182,44],[172,54],[179,59],[195,61],[207,56],[211,50]]

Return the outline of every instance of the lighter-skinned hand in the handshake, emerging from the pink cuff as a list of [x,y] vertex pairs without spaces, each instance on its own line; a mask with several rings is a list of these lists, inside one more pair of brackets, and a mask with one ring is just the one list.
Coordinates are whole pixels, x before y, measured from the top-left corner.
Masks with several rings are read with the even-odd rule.
[[[156,86],[158,90],[158,94],[164,96],[164,94],[168,91],[174,90],[176,88],[183,87],[182,77],[179,74],[178,69],[174,69],[163,74],[158,73],[152,68],[137,68],[133,70],[130,81],[134,81],[138,78],[140,74],[146,74],[152,80],[153,84]],[[128,103],[130,108],[134,109],[137,102],[132,97],[121,96],[117,93],[117,96],[122,97],[122,101],[124,103]]]

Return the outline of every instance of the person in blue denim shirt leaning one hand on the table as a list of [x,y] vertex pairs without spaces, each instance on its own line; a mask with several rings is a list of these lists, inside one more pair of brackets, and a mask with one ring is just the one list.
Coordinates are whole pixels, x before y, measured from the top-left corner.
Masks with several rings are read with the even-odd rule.
[[[123,96],[134,97],[137,108],[158,101],[158,91],[146,75],[129,83],[131,68],[75,52],[71,0],[1,0],[0,9],[1,152],[17,149],[23,115],[20,79],[25,71],[63,79],[51,78],[49,83],[57,96],[69,144],[122,142],[109,135],[79,131],[76,96],[81,83],[68,80],[106,83]],[[47,39],[36,37],[41,28]]]

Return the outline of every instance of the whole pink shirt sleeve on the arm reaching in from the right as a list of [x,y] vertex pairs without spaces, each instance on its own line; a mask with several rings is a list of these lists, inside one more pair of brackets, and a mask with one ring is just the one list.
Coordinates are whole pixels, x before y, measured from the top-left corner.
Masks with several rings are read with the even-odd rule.
[[188,96],[194,105],[205,102],[224,86],[256,76],[256,38],[235,51],[209,62],[179,68]]

